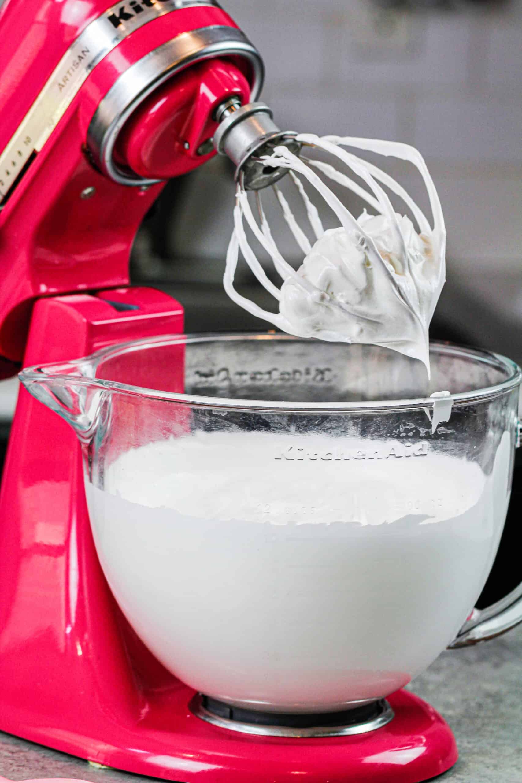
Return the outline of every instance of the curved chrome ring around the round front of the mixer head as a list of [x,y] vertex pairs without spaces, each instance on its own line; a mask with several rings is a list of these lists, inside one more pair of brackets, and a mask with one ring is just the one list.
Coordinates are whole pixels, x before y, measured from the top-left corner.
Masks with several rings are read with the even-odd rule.
[[88,128],[87,143],[95,164],[121,185],[145,186],[160,182],[121,171],[113,162],[117,135],[139,103],[178,71],[211,57],[241,55],[254,74],[252,99],[261,92],[265,69],[257,49],[235,27],[203,27],[182,33],[146,54],[114,82]]

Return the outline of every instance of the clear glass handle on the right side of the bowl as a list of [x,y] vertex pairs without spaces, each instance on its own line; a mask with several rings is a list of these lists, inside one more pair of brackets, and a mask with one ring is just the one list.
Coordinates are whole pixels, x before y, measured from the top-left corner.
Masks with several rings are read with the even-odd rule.
[[[522,421],[517,423],[517,448],[522,445]],[[457,637],[448,644],[448,650],[470,647],[480,641],[502,636],[522,622],[522,582],[508,595],[485,609],[473,609],[459,630]]]

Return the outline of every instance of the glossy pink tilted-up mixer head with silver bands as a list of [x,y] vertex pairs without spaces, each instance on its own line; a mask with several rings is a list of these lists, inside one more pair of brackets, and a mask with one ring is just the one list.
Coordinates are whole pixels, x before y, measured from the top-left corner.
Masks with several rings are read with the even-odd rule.
[[0,2],[0,376],[37,298],[128,283],[142,219],[214,136],[252,189],[286,173],[263,155],[299,151],[250,103],[263,61],[217,0],[22,3]]

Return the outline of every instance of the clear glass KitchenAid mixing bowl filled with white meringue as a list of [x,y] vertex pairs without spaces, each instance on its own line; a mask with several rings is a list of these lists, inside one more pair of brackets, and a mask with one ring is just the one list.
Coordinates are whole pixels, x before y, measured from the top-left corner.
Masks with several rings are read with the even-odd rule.
[[[128,622],[222,702],[326,713],[522,619],[473,609],[509,503],[520,369],[431,346],[159,337],[24,370],[75,429]],[[436,392],[450,395],[431,397]]]

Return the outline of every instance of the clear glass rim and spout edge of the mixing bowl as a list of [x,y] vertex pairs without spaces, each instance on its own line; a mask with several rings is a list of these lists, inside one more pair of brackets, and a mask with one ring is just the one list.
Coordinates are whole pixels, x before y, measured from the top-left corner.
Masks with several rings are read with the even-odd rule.
[[[412,399],[372,400],[366,402],[281,402],[259,399],[237,399],[227,397],[207,397],[203,395],[188,395],[175,391],[160,391],[157,389],[121,384],[117,381],[106,381],[96,378],[95,372],[100,363],[111,356],[143,350],[147,347],[160,348],[162,345],[183,345],[198,342],[215,341],[247,341],[247,340],[278,340],[299,342],[320,342],[304,337],[294,337],[274,331],[268,332],[208,332],[201,334],[164,334],[157,337],[146,337],[116,345],[101,348],[89,356],[73,361],[49,363],[40,366],[30,366],[19,373],[20,381],[26,388],[34,383],[42,383],[44,377],[52,379],[53,385],[74,384],[75,387],[99,388],[100,391],[110,391],[125,395],[140,396],[147,399],[178,402],[182,405],[207,408],[212,410],[251,411],[253,413],[376,413],[387,411],[403,411],[433,409],[437,400],[433,397],[416,397]],[[347,347],[350,344],[347,344]],[[430,341],[430,350],[445,355],[459,355],[475,361],[496,366],[506,371],[508,377],[499,384],[493,384],[473,391],[463,391],[450,394],[444,399],[451,400],[452,406],[469,405],[471,402],[486,402],[517,388],[522,383],[522,370],[517,363],[507,359],[502,354],[487,351],[482,348],[470,348],[445,341]],[[67,370],[66,370],[67,368]],[[43,376],[43,377],[42,377]]]

